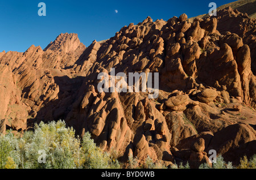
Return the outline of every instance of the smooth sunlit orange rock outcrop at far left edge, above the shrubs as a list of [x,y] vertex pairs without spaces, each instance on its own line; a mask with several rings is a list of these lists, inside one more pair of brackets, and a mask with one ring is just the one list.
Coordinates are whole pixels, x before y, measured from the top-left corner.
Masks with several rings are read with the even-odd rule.
[[7,65],[0,65],[0,92],[0,132],[5,134],[6,128],[15,134],[26,130],[28,107],[22,102],[16,76]]

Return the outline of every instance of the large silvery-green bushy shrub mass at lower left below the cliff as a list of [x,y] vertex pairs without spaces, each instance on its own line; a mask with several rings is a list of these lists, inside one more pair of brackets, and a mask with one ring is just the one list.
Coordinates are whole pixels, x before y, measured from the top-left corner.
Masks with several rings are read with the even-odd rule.
[[11,133],[0,136],[0,168],[119,168],[119,162],[97,147],[89,132],[81,141],[72,127],[65,126],[64,121],[40,122],[22,138]]

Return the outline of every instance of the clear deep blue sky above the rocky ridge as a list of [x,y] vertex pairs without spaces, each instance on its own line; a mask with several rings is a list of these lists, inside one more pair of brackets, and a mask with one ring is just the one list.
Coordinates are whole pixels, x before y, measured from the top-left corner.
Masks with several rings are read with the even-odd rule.
[[[46,3],[46,16],[38,15],[40,2]],[[206,14],[210,2],[218,7],[233,1],[0,0],[0,52],[24,52],[32,44],[44,49],[65,32],[77,33],[80,41],[89,46],[93,40],[113,37],[123,26],[142,22],[147,16],[155,21],[183,13],[188,17]]]

